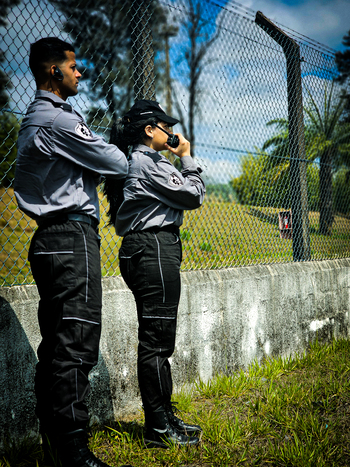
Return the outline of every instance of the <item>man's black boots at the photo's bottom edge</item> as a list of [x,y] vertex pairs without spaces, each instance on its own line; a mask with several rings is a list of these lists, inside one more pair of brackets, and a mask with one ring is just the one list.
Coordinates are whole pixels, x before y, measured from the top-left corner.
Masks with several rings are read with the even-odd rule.
[[[50,458],[48,465],[54,467],[110,467],[94,456],[88,448],[88,435],[85,430],[79,429],[57,435],[55,438],[47,437],[43,448],[45,460]],[[45,452],[46,450],[46,452]],[[132,467],[130,465],[121,467]]]

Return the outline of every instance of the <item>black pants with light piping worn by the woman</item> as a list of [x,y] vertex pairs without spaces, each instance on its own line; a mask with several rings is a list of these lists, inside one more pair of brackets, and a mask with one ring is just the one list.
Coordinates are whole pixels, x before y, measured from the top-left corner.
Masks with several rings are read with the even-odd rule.
[[181,259],[178,230],[128,234],[119,250],[120,271],[137,305],[138,379],[146,414],[171,399]]

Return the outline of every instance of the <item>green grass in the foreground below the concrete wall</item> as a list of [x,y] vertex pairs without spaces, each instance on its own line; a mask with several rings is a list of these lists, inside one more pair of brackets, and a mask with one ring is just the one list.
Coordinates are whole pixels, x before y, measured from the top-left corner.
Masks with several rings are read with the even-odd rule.
[[[194,448],[145,449],[143,417],[94,428],[90,447],[118,466],[350,465],[350,341],[333,340],[247,371],[198,381],[175,395],[182,416],[203,428]],[[39,444],[8,443],[0,467],[43,467]]]

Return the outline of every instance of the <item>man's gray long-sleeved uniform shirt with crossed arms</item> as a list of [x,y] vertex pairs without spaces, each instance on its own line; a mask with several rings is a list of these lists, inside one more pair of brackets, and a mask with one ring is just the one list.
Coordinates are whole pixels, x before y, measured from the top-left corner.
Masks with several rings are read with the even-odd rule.
[[99,174],[124,178],[128,162],[70,104],[37,91],[17,141],[15,194],[33,219],[82,212],[99,219]]

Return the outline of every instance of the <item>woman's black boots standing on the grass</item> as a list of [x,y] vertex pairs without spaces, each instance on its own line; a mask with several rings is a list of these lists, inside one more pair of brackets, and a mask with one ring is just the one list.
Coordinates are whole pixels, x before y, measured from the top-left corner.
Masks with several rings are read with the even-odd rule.
[[145,414],[145,418],[146,433],[144,441],[147,447],[167,448],[169,444],[194,446],[199,443],[199,438],[196,436],[184,435],[171,426],[163,407],[150,414]]

